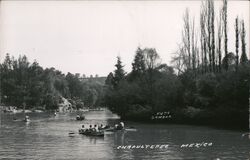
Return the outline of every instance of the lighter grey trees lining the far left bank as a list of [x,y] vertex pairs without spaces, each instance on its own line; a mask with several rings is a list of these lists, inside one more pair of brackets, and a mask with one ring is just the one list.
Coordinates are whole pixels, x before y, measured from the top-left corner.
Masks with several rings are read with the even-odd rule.
[[71,73],[65,76],[55,68],[43,69],[36,61],[30,64],[25,55],[15,59],[9,54],[0,65],[0,73],[4,105],[52,110],[58,108],[62,97],[70,99],[77,109],[102,103],[101,77],[90,79]]

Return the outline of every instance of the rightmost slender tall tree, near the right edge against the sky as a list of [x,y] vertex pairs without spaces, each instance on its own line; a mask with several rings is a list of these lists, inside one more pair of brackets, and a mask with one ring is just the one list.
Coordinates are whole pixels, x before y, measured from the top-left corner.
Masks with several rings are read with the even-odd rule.
[[240,58],[240,63],[244,64],[248,61],[247,59],[247,54],[246,54],[246,42],[245,42],[245,37],[246,37],[246,31],[245,31],[245,26],[244,26],[244,21],[241,21],[241,58]]

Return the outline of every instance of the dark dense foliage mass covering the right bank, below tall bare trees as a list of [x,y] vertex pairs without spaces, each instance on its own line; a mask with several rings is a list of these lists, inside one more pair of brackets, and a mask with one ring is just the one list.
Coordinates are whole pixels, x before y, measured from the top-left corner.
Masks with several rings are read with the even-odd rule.
[[236,57],[230,52],[228,70],[197,74],[188,69],[176,75],[172,67],[161,63],[139,70],[136,66],[146,64],[147,51],[140,49],[139,61],[137,50],[132,71],[116,87],[110,83],[113,73],[109,74],[104,104],[111,111],[129,120],[150,120],[156,112],[170,111],[172,122],[247,128],[249,62],[238,64],[235,70]]

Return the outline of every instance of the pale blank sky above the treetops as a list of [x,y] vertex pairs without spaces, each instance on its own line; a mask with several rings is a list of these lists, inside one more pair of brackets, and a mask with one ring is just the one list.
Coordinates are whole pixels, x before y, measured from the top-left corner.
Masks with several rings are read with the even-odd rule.
[[[126,72],[138,46],[156,48],[170,65],[181,42],[183,14],[199,27],[201,1],[0,1],[0,61],[26,55],[63,73],[107,76],[120,56]],[[215,1],[218,15],[221,1]],[[235,52],[234,22],[245,20],[249,53],[249,1],[228,2],[228,51]],[[215,20],[216,24],[216,20]]]

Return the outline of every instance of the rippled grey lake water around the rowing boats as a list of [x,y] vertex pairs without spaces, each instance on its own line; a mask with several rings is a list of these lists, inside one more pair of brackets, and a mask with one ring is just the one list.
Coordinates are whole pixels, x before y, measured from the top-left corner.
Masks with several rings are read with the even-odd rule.
[[[250,140],[242,132],[202,126],[125,122],[136,130],[104,137],[74,134],[82,124],[120,122],[110,111],[76,113],[1,113],[0,159],[249,159]],[[13,120],[15,117],[17,120]]]

